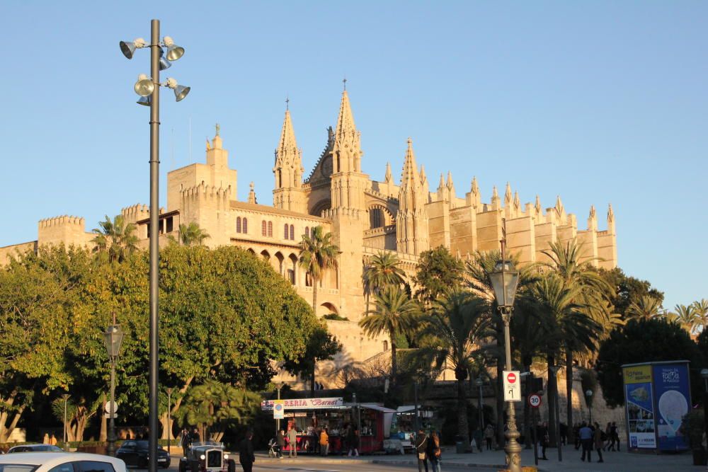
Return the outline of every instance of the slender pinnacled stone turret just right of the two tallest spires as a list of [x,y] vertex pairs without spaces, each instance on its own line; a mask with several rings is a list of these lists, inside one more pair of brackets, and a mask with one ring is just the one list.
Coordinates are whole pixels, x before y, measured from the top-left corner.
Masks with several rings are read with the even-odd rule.
[[396,250],[400,253],[418,255],[429,248],[428,203],[421,175],[418,174],[413,141],[408,139],[406,159],[399,189],[399,211],[396,216]]

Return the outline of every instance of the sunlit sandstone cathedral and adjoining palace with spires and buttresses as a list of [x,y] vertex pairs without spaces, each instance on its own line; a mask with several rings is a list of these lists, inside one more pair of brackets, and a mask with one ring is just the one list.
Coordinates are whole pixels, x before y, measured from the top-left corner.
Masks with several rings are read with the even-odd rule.
[[[366,362],[389,349],[384,335],[369,338],[358,327],[365,310],[362,268],[379,251],[396,252],[401,267],[413,274],[418,255],[430,248],[445,246],[462,259],[474,251],[498,250],[506,224],[508,251],[523,263],[544,260],[542,251],[549,243],[577,238],[583,258],[593,265],[607,269],[617,265],[611,206],[607,229],[600,231],[595,207],[590,207],[586,229],[578,229],[576,215],[566,213],[560,197],[545,209],[538,197],[522,204],[508,184],[502,197],[495,187],[491,200],[484,202],[476,178],[459,197],[447,173],[447,178],[440,175],[438,187],[431,191],[410,138],[406,149],[401,149],[405,161],[399,182],[390,165],[382,181],[372,180],[362,172],[360,132],[346,90],[336,128],[329,128],[324,151],[309,175],[302,166],[290,111],[285,111],[275,149],[272,206],[256,202],[253,184],[246,202],[236,200],[238,175],[229,167],[218,127],[206,148],[205,163],[192,163],[167,175],[167,207],[159,217],[161,243],[169,234],[176,235],[180,224],[196,222],[210,234],[207,246],[235,245],[264,258],[312,303],[312,281],[297,264],[298,243],[312,228],[323,226],[341,251],[336,269],[318,282],[316,307],[317,316],[335,313],[339,318],[327,320],[330,332],[345,348],[333,364]],[[147,206],[124,208],[122,215],[137,225],[141,244],[147,248]],[[86,232],[83,218],[43,219],[36,241],[0,248],[0,264],[16,251],[36,251],[43,244],[91,246],[93,236]],[[336,370],[336,365],[328,369]]]

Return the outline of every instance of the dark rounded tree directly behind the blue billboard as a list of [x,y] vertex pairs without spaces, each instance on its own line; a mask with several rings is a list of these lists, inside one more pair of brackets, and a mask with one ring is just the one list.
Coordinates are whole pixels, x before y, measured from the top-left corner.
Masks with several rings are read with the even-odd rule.
[[595,362],[605,402],[610,408],[624,405],[622,364],[672,360],[691,362],[692,396],[700,398],[703,382],[698,367],[704,362],[686,330],[666,318],[638,318],[628,321],[624,328],[615,328],[600,344]]

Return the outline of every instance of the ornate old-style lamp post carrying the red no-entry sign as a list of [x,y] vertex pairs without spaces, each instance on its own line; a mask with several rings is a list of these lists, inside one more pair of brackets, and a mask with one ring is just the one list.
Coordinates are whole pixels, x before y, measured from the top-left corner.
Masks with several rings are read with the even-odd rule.
[[[519,272],[514,269],[510,260],[506,260],[506,221],[503,221],[503,237],[501,240],[501,260],[496,263],[494,272],[489,274],[489,279],[494,289],[496,304],[504,322],[504,347],[506,348],[506,370],[511,370],[511,336],[509,334],[509,321],[514,311],[514,297],[519,282]],[[506,430],[506,463],[510,472],[521,472],[521,445],[516,427],[516,412],[513,402],[508,402],[508,422]]]

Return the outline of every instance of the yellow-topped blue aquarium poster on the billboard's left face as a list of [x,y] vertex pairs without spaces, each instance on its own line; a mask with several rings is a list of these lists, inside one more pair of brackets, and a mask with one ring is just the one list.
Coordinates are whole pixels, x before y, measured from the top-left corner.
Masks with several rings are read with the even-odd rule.
[[651,366],[624,367],[623,374],[629,449],[655,449]]

